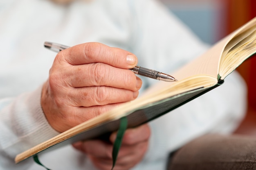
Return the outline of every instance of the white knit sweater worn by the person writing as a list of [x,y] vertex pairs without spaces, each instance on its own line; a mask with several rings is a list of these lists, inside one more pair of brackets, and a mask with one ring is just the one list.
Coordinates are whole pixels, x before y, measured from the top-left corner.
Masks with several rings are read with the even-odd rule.
[[[1,0],[0,169],[39,170],[31,159],[15,165],[15,155],[58,134],[40,107],[41,85],[56,55],[43,47],[44,41],[101,42],[133,52],[139,65],[162,72],[173,72],[207,49],[154,0],[77,0],[68,6]],[[156,83],[142,79],[141,91]],[[234,72],[222,86],[150,122],[150,147],[134,169],[163,170],[168,153],[198,135],[232,132],[245,113],[245,94]],[[71,146],[39,157],[53,170],[94,169]]]

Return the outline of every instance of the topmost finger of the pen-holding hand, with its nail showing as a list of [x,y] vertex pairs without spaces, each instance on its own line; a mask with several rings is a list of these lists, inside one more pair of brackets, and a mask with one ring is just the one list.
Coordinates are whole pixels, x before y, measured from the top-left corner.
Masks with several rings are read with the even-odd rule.
[[97,42],[79,44],[62,50],[59,54],[71,65],[106,63],[124,69],[134,68],[137,65],[137,57],[134,54]]

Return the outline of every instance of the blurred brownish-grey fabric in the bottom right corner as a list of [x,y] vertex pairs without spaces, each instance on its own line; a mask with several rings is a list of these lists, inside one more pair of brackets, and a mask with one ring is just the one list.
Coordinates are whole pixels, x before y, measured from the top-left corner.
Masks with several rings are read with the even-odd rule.
[[171,154],[168,170],[256,170],[256,137],[208,134]]

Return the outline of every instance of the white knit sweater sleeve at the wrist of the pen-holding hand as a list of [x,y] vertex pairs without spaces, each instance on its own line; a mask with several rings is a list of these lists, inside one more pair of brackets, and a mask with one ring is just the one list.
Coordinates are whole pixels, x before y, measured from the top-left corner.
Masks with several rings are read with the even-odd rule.
[[15,156],[58,134],[44,116],[40,96],[41,87],[0,99],[0,169],[27,169],[29,160],[16,165]]

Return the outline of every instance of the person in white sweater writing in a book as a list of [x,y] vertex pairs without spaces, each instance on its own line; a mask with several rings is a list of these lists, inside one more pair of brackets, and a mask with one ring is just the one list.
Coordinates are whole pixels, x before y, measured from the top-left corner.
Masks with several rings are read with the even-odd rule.
[[[13,159],[119,103],[134,100],[138,91],[157,86],[155,80],[138,78],[127,68],[138,64],[171,73],[209,48],[155,0],[63,2],[0,2],[1,169],[42,168],[32,159],[18,164]],[[44,41],[72,47],[54,54],[43,48]],[[115,169],[165,169],[169,153],[192,139],[232,133],[245,109],[246,87],[233,72],[211,92],[128,129]],[[112,133],[110,141],[114,139]],[[54,170],[105,170],[112,166],[111,147],[90,140],[39,157]]]

